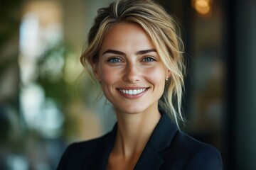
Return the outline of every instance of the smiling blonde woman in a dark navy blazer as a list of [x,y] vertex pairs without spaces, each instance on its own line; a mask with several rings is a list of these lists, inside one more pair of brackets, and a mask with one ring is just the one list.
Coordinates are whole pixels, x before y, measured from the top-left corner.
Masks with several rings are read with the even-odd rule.
[[178,128],[182,53],[173,18],[155,2],[100,8],[80,61],[113,104],[117,124],[70,145],[58,169],[222,169],[217,149]]

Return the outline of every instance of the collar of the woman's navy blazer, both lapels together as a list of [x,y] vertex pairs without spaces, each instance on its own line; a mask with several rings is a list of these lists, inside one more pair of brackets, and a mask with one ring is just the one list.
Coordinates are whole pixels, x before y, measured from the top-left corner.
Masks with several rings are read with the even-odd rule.
[[[142,155],[134,167],[136,169],[159,169],[164,160],[161,159],[159,152],[166,149],[171,145],[171,140],[176,134],[178,128],[171,121],[169,115],[161,112],[161,118],[156,128],[151,134],[149,141],[144,148]],[[102,137],[102,140],[98,142],[97,149],[92,154],[90,159],[90,165],[87,164],[84,167],[92,167],[96,169],[105,169],[107,166],[108,157],[114,146],[114,140],[117,134],[117,124],[107,135]]]

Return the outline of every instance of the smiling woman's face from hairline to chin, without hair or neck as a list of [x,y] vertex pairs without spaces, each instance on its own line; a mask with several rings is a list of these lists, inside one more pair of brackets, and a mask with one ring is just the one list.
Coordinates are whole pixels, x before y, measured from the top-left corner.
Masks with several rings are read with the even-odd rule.
[[170,72],[141,26],[118,23],[107,32],[93,66],[117,113],[157,111]]

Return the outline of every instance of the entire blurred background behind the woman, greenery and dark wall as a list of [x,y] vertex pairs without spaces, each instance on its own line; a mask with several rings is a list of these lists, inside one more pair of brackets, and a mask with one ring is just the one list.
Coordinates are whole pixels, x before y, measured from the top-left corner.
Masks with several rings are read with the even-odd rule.
[[[0,169],[55,169],[70,142],[115,117],[79,57],[110,0],[0,0]],[[158,0],[181,23],[188,75],[183,128],[225,169],[256,169],[256,1]]]

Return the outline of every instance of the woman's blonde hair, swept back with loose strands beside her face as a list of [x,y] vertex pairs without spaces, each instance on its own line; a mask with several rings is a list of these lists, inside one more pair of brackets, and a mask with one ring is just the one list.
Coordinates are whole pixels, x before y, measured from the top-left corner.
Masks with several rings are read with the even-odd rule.
[[[90,72],[90,64],[97,62],[102,39],[107,31],[120,22],[138,23],[156,47],[161,60],[171,71],[166,81],[159,109],[164,110],[178,125],[183,122],[181,100],[183,93],[183,42],[177,33],[177,24],[164,8],[150,0],[119,0],[107,8],[100,8],[90,29],[87,47],[80,57],[82,65]],[[91,73],[92,74],[92,73]]]

